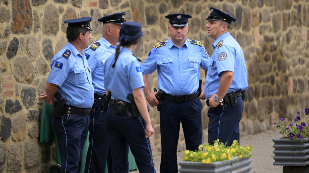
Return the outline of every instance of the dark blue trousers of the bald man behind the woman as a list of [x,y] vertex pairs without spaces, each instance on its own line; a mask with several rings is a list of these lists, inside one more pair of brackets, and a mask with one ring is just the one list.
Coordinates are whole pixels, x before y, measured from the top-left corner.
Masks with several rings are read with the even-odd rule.
[[85,173],[104,173],[106,161],[108,172],[112,173],[112,156],[109,151],[109,137],[105,129],[104,114],[100,101],[94,115],[90,116]]

